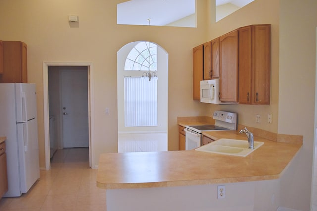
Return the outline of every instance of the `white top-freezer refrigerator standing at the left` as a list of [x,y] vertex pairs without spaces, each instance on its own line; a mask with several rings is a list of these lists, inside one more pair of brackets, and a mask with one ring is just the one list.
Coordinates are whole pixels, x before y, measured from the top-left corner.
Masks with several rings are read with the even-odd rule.
[[35,84],[0,84],[0,136],[6,136],[4,197],[18,197],[40,178]]

